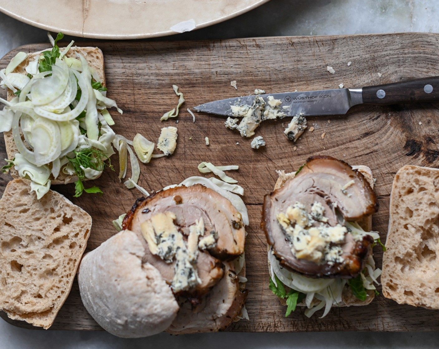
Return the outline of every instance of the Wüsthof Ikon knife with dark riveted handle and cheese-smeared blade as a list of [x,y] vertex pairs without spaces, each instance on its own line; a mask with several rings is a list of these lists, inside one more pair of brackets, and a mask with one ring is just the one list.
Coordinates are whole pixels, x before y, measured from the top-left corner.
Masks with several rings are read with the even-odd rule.
[[[356,104],[398,104],[409,102],[439,101],[439,76],[389,83],[363,88],[343,88],[305,92],[284,92],[258,95],[268,102],[268,97],[282,101],[281,111],[286,116],[341,115]],[[231,105],[252,105],[255,96],[228,98],[198,105],[197,112],[233,116]],[[283,108],[284,106],[288,108]]]

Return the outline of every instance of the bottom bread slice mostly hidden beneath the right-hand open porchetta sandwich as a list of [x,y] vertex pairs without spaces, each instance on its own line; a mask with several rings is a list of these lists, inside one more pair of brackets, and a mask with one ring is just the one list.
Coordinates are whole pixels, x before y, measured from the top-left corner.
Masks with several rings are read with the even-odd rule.
[[[364,176],[364,178],[367,180],[367,182],[370,184],[371,188],[372,189],[374,188],[374,177],[372,175],[372,170],[369,167],[363,166],[363,165],[351,166],[351,167],[353,170],[360,172]],[[294,178],[294,176],[296,174],[296,172],[285,173],[284,170],[277,170],[276,172],[277,172],[279,177],[277,178],[276,183],[274,184],[274,190],[282,187],[287,180]],[[370,231],[372,228],[372,216],[366,216],[363,219],[361,219],[360,221],[358,221],[357,223],[359,223],[360,227],[362,227],[364,230]],[[270,253],[270,245],[267,245],[267,252]],[[268,259],[268,270],[270,273],[270,277],[273,277],[273,275],[271,273],[270,259]],[[287,292],[290,291],[290,288],[288,288],[288,286],[285,286],[285,289]],[[375,298],[374,290],[366,290],[366,291],[367,291],[367,299],[365,301],[362,301],[353,295],[353,293],[348,285],[345,285],[345,287],[343,288],[343,292],[342,292],[342,301],[344,302],[344,304],[341,304],[339,306],[366,306],[367,304],[372,302],[372,300]],[[282,305],[284,305],[284,306],[287,305],[285,299],[283,299],[281,297],[278,297],[278,299]],[[320,302],[316,298],[314,298],[313,301]],[[298,303],[297,305],[298,306],[306,306],[305,300]]]

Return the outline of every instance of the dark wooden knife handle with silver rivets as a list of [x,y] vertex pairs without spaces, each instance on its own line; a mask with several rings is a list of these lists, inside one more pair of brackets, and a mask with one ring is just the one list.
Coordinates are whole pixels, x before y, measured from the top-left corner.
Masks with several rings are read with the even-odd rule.
[[363,87],[364,104],[439,101],[439,76]]

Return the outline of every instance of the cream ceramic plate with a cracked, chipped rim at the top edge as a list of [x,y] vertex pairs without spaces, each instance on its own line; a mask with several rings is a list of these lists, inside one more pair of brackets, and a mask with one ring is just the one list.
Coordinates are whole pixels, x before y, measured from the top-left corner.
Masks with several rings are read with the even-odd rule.
[[140,39],[199,29],[268,0],[0,0],[0,11],[53,32]]

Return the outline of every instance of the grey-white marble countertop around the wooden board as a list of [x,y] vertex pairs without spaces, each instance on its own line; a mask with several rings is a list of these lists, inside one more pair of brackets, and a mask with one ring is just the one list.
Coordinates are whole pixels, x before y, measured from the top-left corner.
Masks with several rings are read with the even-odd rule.
[[[208,28],[151,40],[209,40],[254,36],[439,32],[436,0],[271,0]],[[257,25],[255,25],[257,23]],[[0,57],[27,43],[47,42],[45,30],[0,13]],[[68,38],[70,40],[70,38]],[[73,40],[87,41],[79,38]],[[438,53],[439,54],[439,53]],[[437,348],[438,332],[209,333],[123,339],[106,332],[40,331],[0,320],[0,348]]]

